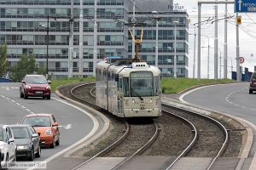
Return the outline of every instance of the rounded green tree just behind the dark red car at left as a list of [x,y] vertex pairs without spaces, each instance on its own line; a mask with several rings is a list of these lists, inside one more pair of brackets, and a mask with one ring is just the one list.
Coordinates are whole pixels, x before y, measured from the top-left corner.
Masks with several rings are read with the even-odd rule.
[[14,82],[20,82],[26,74],[34,74],[37,71],[34,55],[22,55],[17,65],[10,69],[10,77]]

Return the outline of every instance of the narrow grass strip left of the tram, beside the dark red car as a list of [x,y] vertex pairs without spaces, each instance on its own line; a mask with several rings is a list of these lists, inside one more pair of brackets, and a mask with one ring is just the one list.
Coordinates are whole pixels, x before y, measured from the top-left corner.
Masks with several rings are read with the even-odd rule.
[[68,84],[68,83],[73,83],[73,82],[94,82],[94,81],[95,81],[95,77],[56,79],[51,82],[50,88],[52,89],[53,92],[55,92],[56,88],[63,84]]

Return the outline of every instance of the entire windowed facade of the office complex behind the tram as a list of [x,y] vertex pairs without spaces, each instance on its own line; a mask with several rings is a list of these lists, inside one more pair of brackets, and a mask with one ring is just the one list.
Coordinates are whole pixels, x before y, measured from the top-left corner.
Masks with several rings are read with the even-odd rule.
[[[79,2],[74,0],[73,75],[79,75]],[[95,16],[95,2],[97,4]],[[122,23],[131,21],[131,3],[125,0],[83,0],[83,75],[93,75],[93,56],[131,57],[131,36]],[[33,54],[38,65],[46,65],[47,19],[49,17],[49,74],[68,75],[70,0],[0,0],[0,42],[8,45],[9,66],[16,65],[22,54]],[[155,22],[151,12],[137,12],[147,22],[140,55],[149,65],[155,61]],[[177,24],[177,76],[188,76],[188,18],[185,12],[162,14],[159,21],[159,67],[164,76],[172,76],[174,26]],[[96,20],[96,34],[94,32]],[[121,21],[121,22],[118,22]],[[96,38],[94,37],[96,35]],[[136,35],[140,35],[137,28]],[[94,42],[96,39],[96,48]]]

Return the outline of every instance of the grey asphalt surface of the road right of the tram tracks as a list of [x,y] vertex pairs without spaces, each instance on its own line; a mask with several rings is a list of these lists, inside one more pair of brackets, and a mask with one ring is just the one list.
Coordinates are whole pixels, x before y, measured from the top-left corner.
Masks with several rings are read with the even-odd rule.
[[183,100],[215,111],[223,111],[256,124],[256,94],[248,93],[248,82],[212,85],[183,95]]

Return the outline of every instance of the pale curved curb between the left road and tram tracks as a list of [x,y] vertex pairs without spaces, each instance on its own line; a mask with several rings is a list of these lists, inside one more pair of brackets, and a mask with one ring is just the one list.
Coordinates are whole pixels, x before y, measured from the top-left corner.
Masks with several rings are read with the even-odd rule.
[[71,157],[71,155],[73,155],[74,153],[76,153],[79,150],[84,149],[84,147],[86,147],[87,145],[95,142],[97,139],[101,138],[102,135],[104,135],[105,133],[108,132],[108,127],[110,125],[110,122],[109,122],[109,120],[108,120],[108,118],[106,116],[102,115],[102,113],[100,113],[99,111],[96,111],[96,110],[90,108],[87,105],[83,105],[83,104],[81,104],[81,103],[79,103],[79,102],[77,102],[77,101],[75,101],[73,99],[67,98],[66,96],[62,95],[59,92],[59,90],[56,90],[55,94],[58,95],[61,99],[66,99],[68,102],[72,103],[73,105],[79,106],[80,108],[84,109],[85,111],[90,111],[93,114],[95,114],[96,116],[100,116],[102,118],[103,122],[104,122],[104,125],[103,125],[103,127],[102,127],[102,129],[100,130],[99,133],[96,133],[96,135],[92,136],[90,139],[81,142],[80,144],[75,146],[73,149],[68,150],[64,154],[64,157]]

